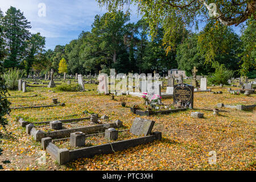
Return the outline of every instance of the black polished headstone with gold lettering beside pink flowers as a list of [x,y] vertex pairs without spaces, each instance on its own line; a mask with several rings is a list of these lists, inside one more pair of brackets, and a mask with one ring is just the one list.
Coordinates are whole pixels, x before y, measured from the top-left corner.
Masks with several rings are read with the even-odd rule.
[[193,108],[194,87],[188,84],[174,86],[174,104]]

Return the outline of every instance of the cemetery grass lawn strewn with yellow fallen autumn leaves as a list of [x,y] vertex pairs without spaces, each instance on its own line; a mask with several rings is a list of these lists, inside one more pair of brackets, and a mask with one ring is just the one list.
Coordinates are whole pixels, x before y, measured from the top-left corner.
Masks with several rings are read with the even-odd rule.
[[[119,99],[111,100],[111,96],[97,96],[97,85],[85,84],[90,92],[58,92],[55,88],[28,88],[28,92],[9,92],[12,96],[32,96],[29,98],[10,98],[11,107],[48,105],[52,98],[58,98],[65,106],[45,107],[36,109],[12,110],[7,115],[9,125],[3,133],[0,148],[0,164],[3,170],[255,170],[255,108],[250,111],[236,109],[222,109],[214,117],[213,111],[217,103],[253,105],[256,94],[246,97],[243,94],[233,96],[226,89],[223,94],[208,92],[195,93],[194,110],[180,111],[166,115],[150,115],[142,117],[154,120],[153,131],[162,132],[162,140],[129,148],[125,151],[108,155],[96,155],[93,158],[83,158],[59,166],[48,154],[46,164],[39,164],[38,158],[43,150],[40,142],[35,142],[31,136],[26,135],[24,128],[16,122],[16,117],[30,119],[30,122],[53,121],[56,119],[69,119],[87,117],[82,112],[88,110],[101,115],[108,115],[110,120],[120,119],[125,128],[129,129],[135,117],[129,107],[122,107]],[[94,89],[94,90],[92,90]],[[233,89],[233,88],[232,88]],[[234,88],[236,89],[236,88]],[[48,92],[53,90],[55,92]],[[93,96],[92,96],[93,95]],[[164,104],[172,104],[172,99],[163,100]],[[142,98],[127,97],[127,105],[141,105]],[[203,110],[207,109],[207,110]],[[192,118],[192,111],[204,113],[204,118]],[[133,138],[123,133],[121,139]],[[104,143],[104,138],[90,137],[88,146]],[[59,143],[67,145],[67,142]],[[216,151],[217,163],[208,163],[209,152]],[[2,161],[10,163],[3,164]]]

